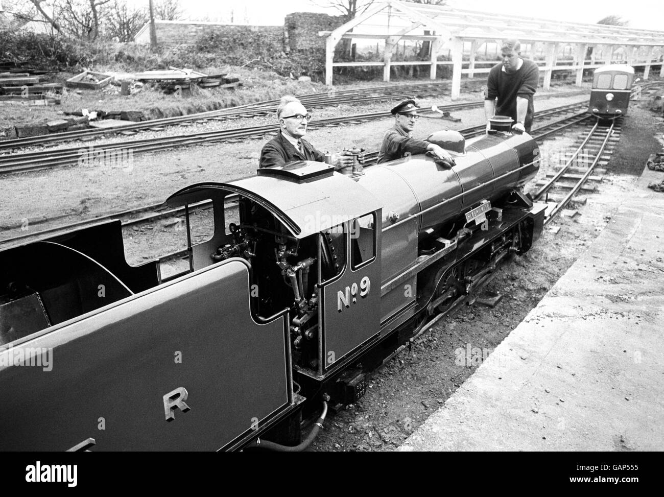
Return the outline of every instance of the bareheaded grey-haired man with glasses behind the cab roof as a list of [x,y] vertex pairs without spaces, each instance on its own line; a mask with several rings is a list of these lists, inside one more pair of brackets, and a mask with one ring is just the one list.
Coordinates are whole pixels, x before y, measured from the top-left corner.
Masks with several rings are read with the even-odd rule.
[[[325,161],[325,153],[302,138],[307,133],[307,124],[311,116],[297,98],[294,96],[282,98],[277,108],[277,119],[280,130],[276,137],[263,146],[259,167],[273,167],[295,161]],[[334,153],[332,165],[337,170],[352,166],[353,154],[350,151]]]

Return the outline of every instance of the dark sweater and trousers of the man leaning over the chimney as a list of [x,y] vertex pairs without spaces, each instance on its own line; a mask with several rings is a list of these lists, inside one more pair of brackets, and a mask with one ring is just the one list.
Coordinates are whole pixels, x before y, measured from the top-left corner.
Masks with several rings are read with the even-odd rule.
[[487,81],[487,98],[496,102],[496,116],[509,116],[514,122],[517,122],[517,96],[528,99],[528,112],[523,123],[526,132],[531,132],[533,125],[533,95],[537,89],[539,81],[539,68],[537,64],[527,58],[523,59],[523,64],[517,72],[510,74],[503,71],[503,64],[496,64],[489,72]]

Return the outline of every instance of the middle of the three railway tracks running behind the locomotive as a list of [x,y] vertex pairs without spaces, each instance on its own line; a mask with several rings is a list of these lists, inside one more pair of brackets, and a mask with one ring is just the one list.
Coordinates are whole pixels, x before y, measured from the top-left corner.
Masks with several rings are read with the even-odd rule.
[[[562,106],[557,112],[566,112],[570,107],[580,107],[585,104],[572,104],[572,106]],[[477,108],[483,106],[483,100],[477,102],[465,102],[461,104],[450,104],[440,106],[443,112],[461,110],[468,108]],[[544,115],[555,113],[556,110],[544,111]],[[541,116],[542,114],[537,114]],[[371,114],[357,114],[355,116],[341,116],[338,118],[327,118],[309,122],[309,128],[344,126],[347,124],[361,124],[363,122],[383,119],[390,117],[389,112],[375,112]],[[476,127],[477,130],[483,128]],[[90,145],[88,148],[72,147],[55,150],[33,151],[24,153],[13,153],[9,155],[0,155],[0,174],[18,173],[28,171],[39,171],[40,169],[51,169],[53,167],[62,167],[70,165],[90,165],[90,163],[117,163],[127,161],[129,153],[133,158],[134,154],[147,153],[171,149],[178,146],[190,146],[210,142],[232,142],[234,140],[244,140],[246,138],[264,138],[268,134],[275,134],[279,129],[278,124],[269,124],[266,126],[250,126],[247,128],[233,128],[230,130],[214,130],[194,134],[185,134],[179,136],[170,136],[167,138],[145,138],[143,140],[127,140],[113,144]]]

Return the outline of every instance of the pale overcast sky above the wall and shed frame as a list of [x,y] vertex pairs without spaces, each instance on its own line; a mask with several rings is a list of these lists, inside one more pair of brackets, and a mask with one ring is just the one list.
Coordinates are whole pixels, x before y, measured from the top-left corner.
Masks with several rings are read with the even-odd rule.
[[[147,0],[133,0],[135,3],[147,3]],[[206,15],[212,21],[237,24],[283,25],[284,17],[291,12],[325,12],[339,14],[335,9],[325,9],[327,0],[180,0],[187,13],[193,18]],[[646,0],[450,0],[449,4],[459,9],[481,12],[522,15],[596,23],[607,15],[619,15],[629,21],[629,27],[664,31],[664,7],[661,1]]]

